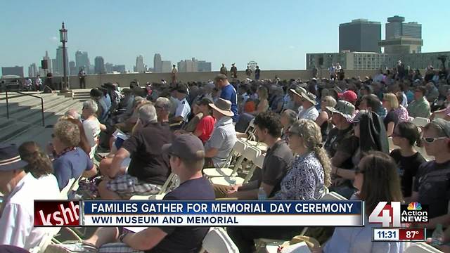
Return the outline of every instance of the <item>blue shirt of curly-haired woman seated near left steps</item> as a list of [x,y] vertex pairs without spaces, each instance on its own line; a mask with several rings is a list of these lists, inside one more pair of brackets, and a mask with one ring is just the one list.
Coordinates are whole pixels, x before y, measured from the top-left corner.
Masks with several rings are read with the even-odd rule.
[[68,185],[70,179],[78,179],[84,171],[94,167],[91,159],[81,148],[75,148],[53,160],[53,174],[60,190]]

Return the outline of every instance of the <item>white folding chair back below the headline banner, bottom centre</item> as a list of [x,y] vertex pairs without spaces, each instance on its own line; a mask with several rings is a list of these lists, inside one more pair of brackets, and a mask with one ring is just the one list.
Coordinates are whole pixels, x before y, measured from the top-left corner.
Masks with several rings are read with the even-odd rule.
[[224,228],[211,228],[203,238],[200,253],[239,253],[238,247],[226,233]]

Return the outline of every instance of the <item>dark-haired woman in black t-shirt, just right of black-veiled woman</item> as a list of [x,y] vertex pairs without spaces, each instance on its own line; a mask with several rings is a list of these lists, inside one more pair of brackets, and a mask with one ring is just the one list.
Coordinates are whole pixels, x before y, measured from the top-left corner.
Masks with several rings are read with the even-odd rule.
[[420,138],[417,126],[411,122],[397,124],[392,134],[392,142],[400,148],[392,150],[391,157],[399,167],[401,179],[401,192],[403,196],[411,197],[413,189],[413,178],[425,159],[414,149],[414,145]]

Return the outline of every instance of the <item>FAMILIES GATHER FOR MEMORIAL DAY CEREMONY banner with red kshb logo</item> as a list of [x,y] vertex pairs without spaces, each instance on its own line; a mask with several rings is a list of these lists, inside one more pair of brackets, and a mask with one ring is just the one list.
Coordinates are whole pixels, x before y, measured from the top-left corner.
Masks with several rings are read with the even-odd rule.
[[34,226],[364,226],[364,202],[35,201]]

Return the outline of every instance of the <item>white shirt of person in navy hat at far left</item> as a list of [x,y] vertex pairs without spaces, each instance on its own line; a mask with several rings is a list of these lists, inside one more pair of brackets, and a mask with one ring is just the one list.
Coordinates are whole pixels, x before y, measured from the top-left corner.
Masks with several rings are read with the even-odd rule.
[[[58,188],[59,189],[59,188]],[[32,174],[20,179],[8,199],[0,217],[0,245],[14,245],[24,249],[36,247],[49,228],[34,228],[34,200],[58,199],[49,193]]]

